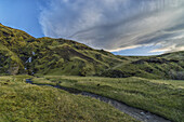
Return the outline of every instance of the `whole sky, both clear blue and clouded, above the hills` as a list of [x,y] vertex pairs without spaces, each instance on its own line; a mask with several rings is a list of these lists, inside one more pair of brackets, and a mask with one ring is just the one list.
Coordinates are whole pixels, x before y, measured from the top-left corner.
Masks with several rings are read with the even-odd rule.
[[117,55],[184,51],[184,0],[0,0],[0,23]]

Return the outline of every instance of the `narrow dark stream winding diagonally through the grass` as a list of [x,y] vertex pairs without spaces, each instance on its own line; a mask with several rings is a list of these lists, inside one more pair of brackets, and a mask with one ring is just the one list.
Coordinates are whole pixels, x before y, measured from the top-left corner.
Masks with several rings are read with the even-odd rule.
[[[30,83],[30,84],[35,84],[29,79],[27,79],[26,82]],[[36,84],[36,85],[48,85],[48,86],[52,86],[52,87],[56,87],[56,89],[67,91],[69,93],[73,93],[73,94],[76,94],[76,95],[83,95],[83,96],[100,99],[101,101],[104,101],[104,103],[111,105],[116,109],[135,118],[139,121],[143,121],[143,122],[171,122],[171,121],[169,121],[169,120],[167,120],[162,117],[156,116],[154,113],[147,112],[147,111],[142,110],[142,109],[133,108],[133,107],[128,106],[123,103],[119,103],[115,99],[107,98],[107,97],[104,97],[104,96],[100,96],[100,95],[96,95],[96,94],[92,94],[92,93],[88,93],[88,92],[79,92],[79,91],[75,91],[74,89],[68,89],[68,87],[63,87],[63,86],[54,86],[54,85],[49,85],[49,84]]]

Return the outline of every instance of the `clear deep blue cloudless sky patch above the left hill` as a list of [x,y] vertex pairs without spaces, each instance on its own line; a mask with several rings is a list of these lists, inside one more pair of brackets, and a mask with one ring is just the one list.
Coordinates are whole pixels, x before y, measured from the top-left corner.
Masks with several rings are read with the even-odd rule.
[[39,4],[38,0],[0,0],[0,23],[34,37],[43,37],[39,24]]

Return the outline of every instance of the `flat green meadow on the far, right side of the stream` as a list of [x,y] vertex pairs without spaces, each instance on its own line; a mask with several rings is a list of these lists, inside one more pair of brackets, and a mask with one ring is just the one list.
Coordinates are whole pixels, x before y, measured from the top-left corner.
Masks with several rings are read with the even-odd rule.
[[[184,122],[184,81],[143,78],[95,78],[45,76],[35,83],[52,83],[110,97],[171,121]],[[50,81],[50,82],[49,82]]]

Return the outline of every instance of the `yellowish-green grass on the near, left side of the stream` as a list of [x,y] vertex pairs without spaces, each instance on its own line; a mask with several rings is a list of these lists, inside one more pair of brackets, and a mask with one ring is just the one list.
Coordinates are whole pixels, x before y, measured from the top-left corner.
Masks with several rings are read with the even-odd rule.
[[51,86],[28,84],[25,82],[28,78],[0,77],[0,122],[135,122],[108,104]]

